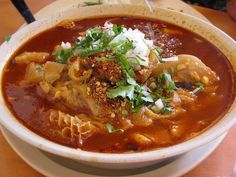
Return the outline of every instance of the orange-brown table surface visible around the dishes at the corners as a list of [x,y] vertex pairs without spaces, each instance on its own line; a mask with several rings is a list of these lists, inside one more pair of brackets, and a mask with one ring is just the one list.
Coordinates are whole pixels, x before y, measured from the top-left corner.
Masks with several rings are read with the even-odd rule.
[[[54,0],[26,0],[33,13],[40,10]],[[9,0],[0,0],[0,43],[4,38],[14,33],[23,19],[11,5]],[[194,6],[196,10],[207,17],[215,26],[225,31],[236,40],[236,21],[233,21],[227,13],[207,8]],[[236,177],[236,126],[234,126],[220,144],[220,146],[200,165],[190,171],[184,177]],[[11,149],[0,132],[0,176],[1,177],[42,177],[28,166]]]

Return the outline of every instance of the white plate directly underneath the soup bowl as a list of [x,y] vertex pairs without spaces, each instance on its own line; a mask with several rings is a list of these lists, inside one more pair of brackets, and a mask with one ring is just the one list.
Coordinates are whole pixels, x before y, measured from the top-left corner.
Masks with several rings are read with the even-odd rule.
[[222,142],[225,135],[211,143],[188,152],[178,158],[165,161],[150,167],[133,170],[104,170],[76,161],[55,156],[23,142],[5,128],[1,128],[4,137],[14,151],[31,167],[50,177],[96,177],[96,176],[132,176],[132,177],[176,177],[181,176],[205,158],[207,158]]

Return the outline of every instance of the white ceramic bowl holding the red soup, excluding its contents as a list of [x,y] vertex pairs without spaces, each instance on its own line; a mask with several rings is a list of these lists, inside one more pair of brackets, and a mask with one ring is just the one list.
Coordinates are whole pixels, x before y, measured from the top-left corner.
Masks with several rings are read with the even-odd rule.
[[[167,9],[157,8],[150,12],[143,6],[131,5],[101,5],[83,8],[75,8],[54,14],[50,18],[45,18],[27,25],[17,31],[8,43],[0,47],[0,71],[2,73],[4,65],[17,48],[35,34],[44,31],[64,19],[83,19],[93,16],[139,16],[162,20],[168,23],[181,26],[191,30],[218,47],[225,54],[236,71],[236,43],[227,34],[217,29],[213,25],[198,18]],[[1,74],[2,76],[2,74]],[[2,79],[2,78],[1,78]],[[1,80],[0,80],[1,81]],[[1,83],[1,82],[0,82]],[[0,93],[0,122],[9,131],[20,139],[35,147],[59,156],[78,160],[79,162],[103,168],[127,169],[151,165],[153,163],[168,159],[204,145],[219,137],[236,122],[236,102],[232,104],[229,111],[214,126],[209,128],[201,135],[167,148],[138,153],[105,154],[77,150],[62,146],[43,137],[24,127],[6,107],[2,92]],[[25,108],[27,109],[27,108]]]

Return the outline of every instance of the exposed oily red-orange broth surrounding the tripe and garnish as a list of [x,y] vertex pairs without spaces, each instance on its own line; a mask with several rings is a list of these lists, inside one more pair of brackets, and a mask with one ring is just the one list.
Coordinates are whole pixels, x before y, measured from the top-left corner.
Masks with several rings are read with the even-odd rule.
[[[181,33],[179,34],[173,34],[173,36],[177,37],[183,44],[181,47],[177,48],[177,54],[195,55],[215,71],[220,77],[218,84],[219,88],[217,89],[216,94],[220,95],[221,98],[219,100],[214,100],[209,94],[200,93],[199,99],[196,102],[196,104],[203,105],[200,111],[187,111],[174,118],[175,121],[180,122],[183,126],[184,133],[179,138],[171,138],[171,143],[165,143],[166,141],[170,141],[170,137],[167,136],[167,134],[169,134],[168,125],[163,125],[156,121],[147,128],[135,127],[125,131],[123,134],[107,133],[105,135],[94,135],[85,141],[83,146],[80,147],[81,149],[98,152],[124,152],[129,149],[142,151],[177,144],[197,135],[198,132],[209,127],[229,108],[233,100],[232,68],[226,57],[214,45],[202,37],[180,27],[148,19],[136,19],[131,17],[86,19],[76,22],[76,27],[73,29],[65,29],[57,26],[40,33],[21,46],[9,60],[3,76],[2,92],[9,109],[15,117],[29,129],[54,142],[70,147],[77,147],[73,142],[65,141],[57,134],[47,131],[48,127],[42,126],[49,115],[44,111],[39,111],[39,108],[45,107],[49,109],[55,107],[46,99],[38,96],[35,88],[29,87],[24,89],[20,85],[15,84],[24,78],[25,67],[19,67],[14,64],[14,62],[12,62],[14,56],[19,55],[24,51],[51,53],[54,46],[60,44],[61,41],[74,42],[76,41],[79,32],[83,32],[90,27],[103,25],[107,20],[114,24],[123,24],[126,27],[134,27],[137,24],[147,25],[148,23],[156,23],[160,28],[165,27],[171,30],[180,31]],[[27,98],[30,98],[27,99],[25,95],[27,95]],[[86,113],[86,110],[81,110],[81,112]],[[75,114],[75,112],[71,110],[68,110],[67,113]],[[206,121],[206,123],[204,125],[197,124],[197,122],[201,120]],[[163,145],[140,146],[139,148],[133,147],[132,142],[129,142],[129,140],[126,139],[128,134],[132,132],[155,134],[159,137],[160,141],[163,142]],[[126,141],[124,141],[125,139]]]

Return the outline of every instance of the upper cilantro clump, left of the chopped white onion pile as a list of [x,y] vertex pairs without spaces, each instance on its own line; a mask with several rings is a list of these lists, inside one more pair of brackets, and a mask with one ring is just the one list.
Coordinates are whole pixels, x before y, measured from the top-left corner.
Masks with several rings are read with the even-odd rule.
[[[119,34],[123,30],[123,27],[115,25],[113,30],[115,30],[116,34]],[[72,56],[86,58],[106,51],[111,51],[115,53],[115,55],[125,54],[128,50],[134,48],[133,42],[128,39],[118,44],[110,44],[114,37],[115,36],[108,35],[107,32],[104,32],[100,28],[91,28],[86,31],[86,36],[81,41],[76,42],[72,48],[55,51],[53,55],[58,63],[66,63]],[[124,63],[123,59],[121,60],[121,63],[125,66],[124,68],[127,69],[127,63]],[[127,72],[132,75],[132,71]]]

